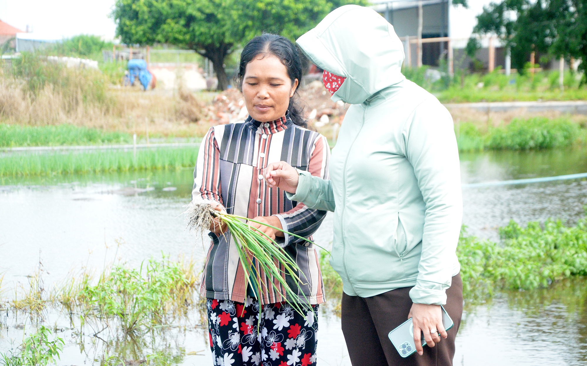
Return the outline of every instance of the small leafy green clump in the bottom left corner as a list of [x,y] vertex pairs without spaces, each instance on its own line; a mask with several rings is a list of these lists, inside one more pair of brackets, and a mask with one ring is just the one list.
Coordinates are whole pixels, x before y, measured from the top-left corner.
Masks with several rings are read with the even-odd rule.
[[25,341],[13,353],[0,353],[2,366],[47,366],[60,360],[63,351],[63,339],[56,337],[49,340],[51,331],[40,326],[36,333],[25,338]]

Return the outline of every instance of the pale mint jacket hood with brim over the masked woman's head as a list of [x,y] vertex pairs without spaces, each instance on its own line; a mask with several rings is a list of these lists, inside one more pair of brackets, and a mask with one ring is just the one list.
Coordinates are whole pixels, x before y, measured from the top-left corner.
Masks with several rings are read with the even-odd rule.
[[346,77],[333,101],[361,104],[405,78],[402,41],[387,20],[364,6],[335,9],[296,42],[316,66]]

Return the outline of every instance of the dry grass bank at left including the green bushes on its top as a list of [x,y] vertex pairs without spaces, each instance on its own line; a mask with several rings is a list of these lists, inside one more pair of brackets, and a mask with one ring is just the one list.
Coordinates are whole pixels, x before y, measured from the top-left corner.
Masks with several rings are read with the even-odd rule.
[[[5,68],[0,72],[0,122],[19,125],[72,124],[151,136],[203,136],[207,96],[180,90],[143,92],[140,88],[106,87],[96,70],[35,67],[46,80],[31,83]],[[38,74],[38,73],[37,73]]]

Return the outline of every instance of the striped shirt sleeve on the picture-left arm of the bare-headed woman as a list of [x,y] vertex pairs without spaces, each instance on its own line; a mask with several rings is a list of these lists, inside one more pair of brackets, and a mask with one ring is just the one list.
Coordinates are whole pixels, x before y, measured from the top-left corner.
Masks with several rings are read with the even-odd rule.
[[200,144],[191,199],[214,200],[224,204],[220,186],[220,148],[214,137],[214,127],[208,130]]

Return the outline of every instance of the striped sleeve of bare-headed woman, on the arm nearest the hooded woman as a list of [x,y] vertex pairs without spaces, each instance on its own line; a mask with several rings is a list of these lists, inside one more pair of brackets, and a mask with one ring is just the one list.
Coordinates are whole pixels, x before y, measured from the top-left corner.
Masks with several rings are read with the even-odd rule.
[[[313,176],[329,179],[329,159],[330,147],[328,146],[328,141],[324,136],[319,135],[312,146],[308,172]],[[282,228],[293,234],[307,238],[318,229],[326,216],[326,211],[311,210],[308,206],[300,202],[291,210],[275,216],[281,221]],[[303,241],[300,238],[288,234],[285,234],[284,239],[284,244],[282,244],[284,247],[295,242]]]

